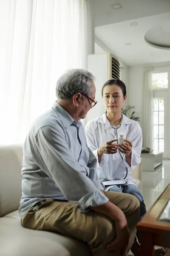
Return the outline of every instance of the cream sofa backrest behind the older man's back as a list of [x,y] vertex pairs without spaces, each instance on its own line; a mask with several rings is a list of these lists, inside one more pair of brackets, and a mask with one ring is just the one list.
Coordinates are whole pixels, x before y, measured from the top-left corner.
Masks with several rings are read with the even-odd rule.
[[22,145],[0,146],[0,217],[20,205]]

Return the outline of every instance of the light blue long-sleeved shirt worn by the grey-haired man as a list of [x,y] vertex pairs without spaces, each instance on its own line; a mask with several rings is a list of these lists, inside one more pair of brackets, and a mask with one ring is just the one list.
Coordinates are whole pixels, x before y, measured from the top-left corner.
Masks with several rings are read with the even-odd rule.
[[96,166],[82,122],[55,101],[34,121],[23,145],[20,217],[45,198],[77,203],[81,212],[107,203]]

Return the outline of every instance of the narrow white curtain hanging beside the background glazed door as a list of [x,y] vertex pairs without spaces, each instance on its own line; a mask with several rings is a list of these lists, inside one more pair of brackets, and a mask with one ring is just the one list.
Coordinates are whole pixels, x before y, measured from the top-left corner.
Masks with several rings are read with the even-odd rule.
[[143,69],[143,117],[142,133],[143,146],[153,149],[153,86],[152,86],[152,67]]

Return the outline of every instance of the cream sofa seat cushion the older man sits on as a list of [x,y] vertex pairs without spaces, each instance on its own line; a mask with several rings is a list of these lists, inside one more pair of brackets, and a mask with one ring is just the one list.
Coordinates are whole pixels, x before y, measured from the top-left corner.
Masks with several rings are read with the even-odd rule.
[[77,239],[24,228],[20,224],[18,211],[0,218],[0,255],[2,256],[79,256],[80,254],[92,256],[88,246]]

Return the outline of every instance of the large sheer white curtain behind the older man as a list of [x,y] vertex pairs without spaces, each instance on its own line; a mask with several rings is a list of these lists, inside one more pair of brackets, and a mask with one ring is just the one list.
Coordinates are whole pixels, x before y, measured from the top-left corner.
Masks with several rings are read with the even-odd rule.
[[0,144],[23,142],[58,77],[87,69],[85,0],[0,0]]

